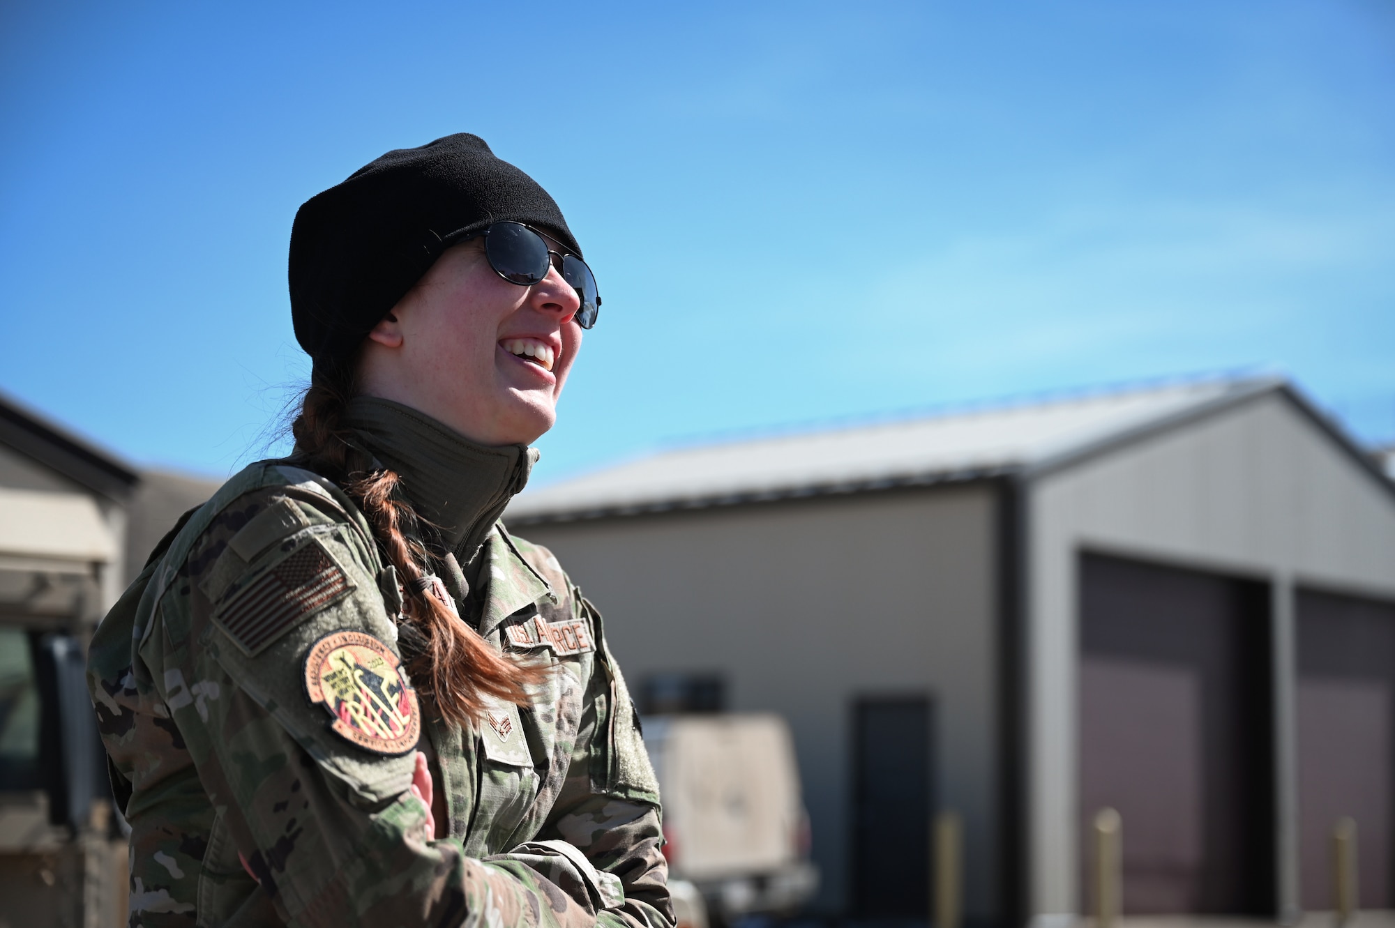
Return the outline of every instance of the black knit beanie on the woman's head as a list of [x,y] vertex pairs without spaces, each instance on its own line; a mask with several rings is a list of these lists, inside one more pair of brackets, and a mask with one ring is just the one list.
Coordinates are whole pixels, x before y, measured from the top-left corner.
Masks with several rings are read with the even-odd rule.
[[466,132],[388,152],[306,201],[290,231],[290,315],[315,373],[349,364],[449,244],[501,219],[582,254],[547,191]]

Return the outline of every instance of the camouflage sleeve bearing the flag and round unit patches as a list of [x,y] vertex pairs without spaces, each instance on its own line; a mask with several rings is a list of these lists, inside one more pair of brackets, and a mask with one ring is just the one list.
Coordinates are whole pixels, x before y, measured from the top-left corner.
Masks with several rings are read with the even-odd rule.
[[205,865],[236,888],[241,853],[293,925],[594,925],[540,872],[427,835],[374,562],[353,527],[271,499],[162,599],[141,654],[216,810]]

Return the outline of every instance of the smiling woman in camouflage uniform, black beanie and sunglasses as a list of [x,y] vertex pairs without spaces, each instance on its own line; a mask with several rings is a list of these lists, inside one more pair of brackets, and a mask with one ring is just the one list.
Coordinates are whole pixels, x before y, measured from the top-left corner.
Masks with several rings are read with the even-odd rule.
[[600,614],[498,521],[600,302],[561,212],[452,135],[301,206],[290,283],[294,453],[92,644],[131,924],[668,928]]

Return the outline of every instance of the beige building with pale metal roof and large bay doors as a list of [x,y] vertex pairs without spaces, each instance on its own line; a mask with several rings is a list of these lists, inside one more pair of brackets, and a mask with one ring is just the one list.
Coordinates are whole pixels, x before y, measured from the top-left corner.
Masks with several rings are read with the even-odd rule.
[[1328,907],[1338,815],[1395,907],[1395,485],[1282,380],[679,449],[506,518],[632,691],[790,719],[824,911],[923,917],[953,808],[971,922],[1081,913],[1103,805],[1127,911]]

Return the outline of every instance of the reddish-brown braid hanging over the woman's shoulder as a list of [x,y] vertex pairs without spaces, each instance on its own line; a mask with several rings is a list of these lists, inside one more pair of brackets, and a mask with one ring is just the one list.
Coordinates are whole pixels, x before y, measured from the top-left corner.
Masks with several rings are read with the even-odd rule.
[[441,715],[462,727],[484,712],[484,697],[527,702],[526,687],[543,679],[540,667],[515,663],[495,651],[420,580],[430,573],[431,553],[414,538],[421,525],[412,504],[398,492],[399,477],[391,470],[349,472],[349,429],[342,415],[354,394],[349,373],[317,372],[306,389],[300,414],[292,422],[296,456],[317,474],[328,477],[353,499],[372,525],[374,536],[403,581],[405,601],[399,641],[407,673]]

